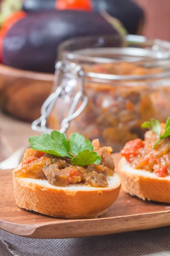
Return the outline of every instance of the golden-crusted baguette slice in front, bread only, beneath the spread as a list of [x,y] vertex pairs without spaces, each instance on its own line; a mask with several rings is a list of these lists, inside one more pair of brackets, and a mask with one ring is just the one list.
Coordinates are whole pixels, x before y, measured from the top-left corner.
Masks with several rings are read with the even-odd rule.
[[17,177],[16,170],[13,182],[17,206],[59,218],[97,218],[113,204],[121,186],[116,173],[107,177],[107,188],[76,184],[59,187],[47,180]]

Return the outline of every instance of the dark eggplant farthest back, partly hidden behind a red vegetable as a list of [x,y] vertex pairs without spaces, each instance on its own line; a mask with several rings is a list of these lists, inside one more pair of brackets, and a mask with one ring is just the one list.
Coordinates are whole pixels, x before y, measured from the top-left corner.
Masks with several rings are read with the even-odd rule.
[[[81,0],[79,0],[81,1]],[[57,0],[24,0],[23,10],[35,12],[54,9]],[[94,12],[108,12],[120,20],[129,34],[137,34],[144,23],[144,11],[132,0],[91,0]]]

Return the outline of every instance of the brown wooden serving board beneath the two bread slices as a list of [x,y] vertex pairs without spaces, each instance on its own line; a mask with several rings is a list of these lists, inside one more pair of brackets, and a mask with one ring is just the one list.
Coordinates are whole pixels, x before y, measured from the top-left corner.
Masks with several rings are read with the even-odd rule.
[[[114,154],[115,164],[119,155]],[[101,218],[66,220],[20,209],[15,204],[12,170],[0,170],[0,228],[29,238],[99,236],[170,225],[170,204],[142,201],[121,191]]]

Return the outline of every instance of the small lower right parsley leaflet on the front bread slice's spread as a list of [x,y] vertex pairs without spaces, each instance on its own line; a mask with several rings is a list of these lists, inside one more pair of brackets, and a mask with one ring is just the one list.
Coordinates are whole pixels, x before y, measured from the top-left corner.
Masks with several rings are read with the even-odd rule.
[[85,166],[92,163],[99,164],[101,163],[101,160],[101,157],[94,154],[94,151],[89,151],[88,149],[85,149],[82,152],[79,152],[77,157],[73,157],[73,159],[71,159],[71,164]]

